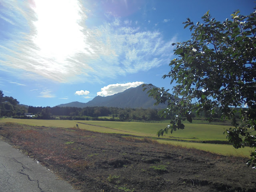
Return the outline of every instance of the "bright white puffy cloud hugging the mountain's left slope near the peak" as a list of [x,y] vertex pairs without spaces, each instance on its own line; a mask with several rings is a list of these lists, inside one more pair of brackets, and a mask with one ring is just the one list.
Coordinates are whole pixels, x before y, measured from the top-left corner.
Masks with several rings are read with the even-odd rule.
[[116,93],[119,92],[123,92],[124,90],[131,88],[131,87],[137,87],[141,84],[143,84],[144,82],[132,82],[132,83],[124,83],[124,84],[110,84],[108,86],[105,86],[103,88],[101,88],[100,92],[97,92],[97,96],[110,96],[110,95],[114,95]]

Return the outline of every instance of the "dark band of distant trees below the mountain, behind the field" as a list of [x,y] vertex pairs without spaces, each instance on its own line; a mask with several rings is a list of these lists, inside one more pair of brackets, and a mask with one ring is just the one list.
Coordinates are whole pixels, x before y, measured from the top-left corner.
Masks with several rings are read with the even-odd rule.
[[111,117],[108,120],[160,120],[157,109],[132,109],[132,108],[117,108],[117,107],[28,107],[28,113],[34,114],[37,118],[42,119],[54,119],[59,116],[60,119],[74,119],[78,118],[82,120],[91,120],[98,117]]

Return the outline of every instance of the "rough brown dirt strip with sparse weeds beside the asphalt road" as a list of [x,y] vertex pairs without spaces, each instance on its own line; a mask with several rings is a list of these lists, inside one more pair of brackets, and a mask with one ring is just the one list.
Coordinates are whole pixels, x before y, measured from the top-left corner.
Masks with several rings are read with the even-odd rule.
[[2,139],[83,192],[254,192],[244,158],[77,128],[0,124]]

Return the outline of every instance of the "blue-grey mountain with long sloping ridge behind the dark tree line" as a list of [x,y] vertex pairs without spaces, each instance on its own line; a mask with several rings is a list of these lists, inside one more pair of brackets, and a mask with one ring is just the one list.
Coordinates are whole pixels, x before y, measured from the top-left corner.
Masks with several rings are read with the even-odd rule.
[[[154,86],[155,87],[155,86]],[[155,100],[148,97],[147,91],[142,90],[142,86],[132,87],[123,92],[111,96],[96,96],[94,99],[87,103],[71,102],[67,104],[60,104],[60,107],[93,107],[93,106],[106,106],[118,108],[152,108],[161,109],[166,108],[166,104],[159,104],[154,106]]]

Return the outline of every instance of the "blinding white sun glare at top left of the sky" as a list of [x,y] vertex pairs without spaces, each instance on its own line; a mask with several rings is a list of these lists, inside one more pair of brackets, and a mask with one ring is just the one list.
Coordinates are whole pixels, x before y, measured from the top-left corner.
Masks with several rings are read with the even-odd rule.
[[84,49],[85,36],[79,25],[84,13],[77,0],[37,0],[34,11],[38,19],[34,43],[41,56],[65,60]]

